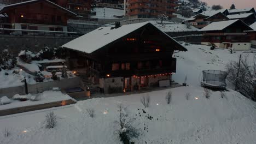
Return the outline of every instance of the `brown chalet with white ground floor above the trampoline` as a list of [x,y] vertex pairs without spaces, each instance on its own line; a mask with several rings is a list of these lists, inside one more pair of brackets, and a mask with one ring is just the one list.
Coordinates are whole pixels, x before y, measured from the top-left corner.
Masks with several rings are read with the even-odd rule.
[[202,45],[214,44],[234,50],[251,49],[249,35],[245,31],[252,31],[252,28],[241,20],[213,22],[199,31],[205,32]]

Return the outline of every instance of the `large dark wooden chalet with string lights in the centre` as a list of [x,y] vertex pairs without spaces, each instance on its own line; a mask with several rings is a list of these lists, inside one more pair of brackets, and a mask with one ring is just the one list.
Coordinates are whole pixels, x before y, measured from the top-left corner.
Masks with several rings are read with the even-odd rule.
[[170,83],[176,73],[174,50],[187,51],[150,22],[100,27],[62,47],[69,53],[69,68],[93,77],[105,93]]

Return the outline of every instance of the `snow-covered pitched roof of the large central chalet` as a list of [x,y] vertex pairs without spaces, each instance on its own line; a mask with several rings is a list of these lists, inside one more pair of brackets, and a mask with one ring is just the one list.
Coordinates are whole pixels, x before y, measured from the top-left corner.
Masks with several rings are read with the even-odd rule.
[[[65,47],[67,49],[81,51],[81,52],[92,53],[98,49],[101,49],[101,47],[106,46],[115,40],[123,38],[125,35],[130,34],[131,32],[136,31],[138,28],[141,28],[146,25],[152,25],[152,23],[150,23],[150,22],[133,23],[130,25],[123,25],[119,28],[100,27],[90,33],[82,35],[81,37],[79,37],[77,39],[69,41],[67,44],[62,45],[62,47]],[[152,26],[155,27],[154,25],[152,25]],[[161,30],[159,29],[159,31],[161,31]],[[162,33],[164,33],[164,32],[162,32]],[[164,33],[164,34],[166,34],[166,33]],[[187,51],[187,49],[185,49],[176,40],[172,39],[169,35],[167,35],[167,36],[172,41],[177,43],[179,45],[179,47],[181,47],[181,49],[179,49],[179,50]]]

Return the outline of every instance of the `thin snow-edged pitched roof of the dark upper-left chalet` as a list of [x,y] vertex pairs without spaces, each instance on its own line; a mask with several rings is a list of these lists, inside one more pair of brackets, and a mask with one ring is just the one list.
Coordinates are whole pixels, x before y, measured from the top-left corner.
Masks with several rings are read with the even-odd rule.
[[51,1],[48,1],[48,0],[31,0],[31,1],[21,2],[21,3],[15,3],[15,4],[5,5],[5,7],[3,7],[3,8],[0,10],[0,13],[3,13],[3,11],[4,11],[5,9],[11,8],[11,7],[16,7],[16,6],[23,5],[23,4],[28,4],[28,3],[36,3],[36,2],[40,2],[40,1],[47,2],[47,3],[49,3],[49,4],[54,5],[55,7],[59,7],[60,9],[66,11],[67,13],[70,13],[70,14],[73,14],[73,15],[77,15],[77,14],[73,13],[72,11],[67,10],[67,9],[61,7],[60,5],[57,5],[57,4],[55,4],[55,3],[51,2]]

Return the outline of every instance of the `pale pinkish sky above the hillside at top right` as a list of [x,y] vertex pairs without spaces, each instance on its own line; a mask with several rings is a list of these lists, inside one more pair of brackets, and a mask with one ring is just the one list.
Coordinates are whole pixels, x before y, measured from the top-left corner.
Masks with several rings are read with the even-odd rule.
[[243,8],[256,8],[256,0],[201,0],[202,2],[208,3],[208,6],[215,5],[222,5],[224,8],[229,9],[230,5],[234,3],[237,9]]

